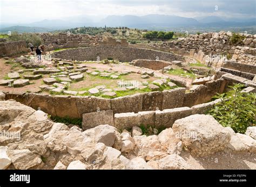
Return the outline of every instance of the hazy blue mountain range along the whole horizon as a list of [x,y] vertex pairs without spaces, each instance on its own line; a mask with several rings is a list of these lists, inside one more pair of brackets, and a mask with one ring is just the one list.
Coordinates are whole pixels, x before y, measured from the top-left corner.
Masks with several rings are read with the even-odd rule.
[[[156,27],[242,27],[255,26],[255,18],[222,18],[218,16],[207,17],[180,17],[171,15],[146,15],[146,16],[107,16],[101,20],[88,16],[67,17],[63,19],[44,19],[30,24],[0,23],[0,32],[13,31],[22,26],[28,27],[27,32],[47,32],[65,28],[96,26],[96,27],[117,27],[127,26],[130,28],[156,28]],[[16,26],[16,27],[13,27]],[[45,31],[44,31],[45,30]],[[19,31],[21,32],[21,31]],[[25,31],[26,32],[26,31]]]

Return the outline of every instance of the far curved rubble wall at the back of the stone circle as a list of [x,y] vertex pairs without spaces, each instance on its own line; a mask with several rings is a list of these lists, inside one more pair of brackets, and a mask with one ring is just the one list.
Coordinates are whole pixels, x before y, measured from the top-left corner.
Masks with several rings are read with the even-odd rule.
[[167,52],[156,51],[153,49],[133,48],[133,47],[84,47],[75,49],[65,49],[55,52],[53,57],[66,60],[96,61],[112,58],[120,62],[131,62],[136,59],[164,60],[172,62],[174,60],[185,61],[185,57]]

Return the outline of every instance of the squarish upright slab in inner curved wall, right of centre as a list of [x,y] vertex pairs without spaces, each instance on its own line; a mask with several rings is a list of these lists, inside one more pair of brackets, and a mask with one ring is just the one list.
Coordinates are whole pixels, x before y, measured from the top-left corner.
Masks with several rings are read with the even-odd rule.
[[174,88],[172,90],[163,91],[163,102],[160,110],[173,109],[183,106],[185,97],[185,88]]

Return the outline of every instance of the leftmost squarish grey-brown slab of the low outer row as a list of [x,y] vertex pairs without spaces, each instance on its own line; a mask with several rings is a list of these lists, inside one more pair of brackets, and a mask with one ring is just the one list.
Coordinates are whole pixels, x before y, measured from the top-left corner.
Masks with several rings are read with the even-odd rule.
[[83,114],[83,130],[96,127],[98,125],[114,125],[113,111],[112,110],[102,110],[98,112],[90,112]]

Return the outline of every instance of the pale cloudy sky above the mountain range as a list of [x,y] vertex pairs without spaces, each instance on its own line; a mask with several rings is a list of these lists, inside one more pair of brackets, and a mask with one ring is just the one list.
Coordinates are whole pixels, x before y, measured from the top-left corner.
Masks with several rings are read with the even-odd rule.
[[255,0],[0,0],[0,21],[31,23],[71,16],[255,17]]

